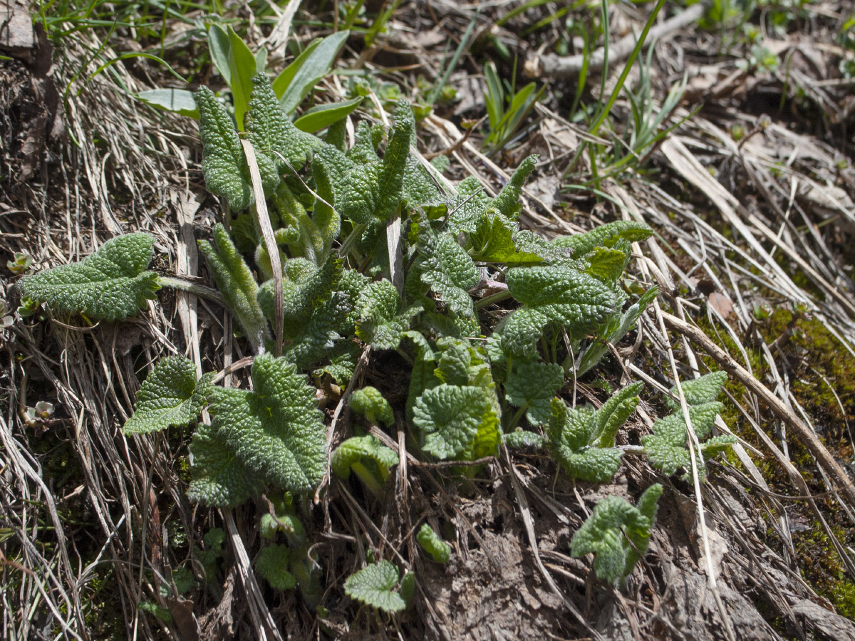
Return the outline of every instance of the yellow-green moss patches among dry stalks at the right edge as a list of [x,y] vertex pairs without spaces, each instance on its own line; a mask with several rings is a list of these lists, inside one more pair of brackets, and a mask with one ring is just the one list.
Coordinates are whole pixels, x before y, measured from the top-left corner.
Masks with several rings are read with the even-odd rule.
[[[698,319],[698,324],[716,344],[746,366],[745,357],[721,326],[713,326],[704,316]],[[793,396],[817,426],[823,443],[839,460],[852,460],[846,421],[855,420],[855,359],[841,357],[846,353],[844,346],[823,322],[799,310],[775,309],[759,319],[757,327],[766,344],[772,346],[776,362],[787,368]],[[768,384],[769,368],[759,345],[746,339],[743,348],[752,373]],[[717,368],[711,358],[703,360],[711,369]],[[746,390],[737,380],[728,379],[726,389],[743,407],[751,407]],[[774,418],[763,408],[761,411],[764,411],[761,425],[772,425]],[[732,403],[725,403],[722,419],[741,438],[764,450],[752,426]],[[791,434],[787,436],[787,450],[811,492],[822,495],[826,488],[811,453]],[[793,491],[786,471],[774,457],[757,461],[757,465],[773,491],[784,494]],[[839,506],[824,497],[817,498],[817,505],[840,543],[855,544],[855,531]],[[805,580],[817,594],[827,598],[840,615],[855,618],[855,582],[846,576],[834,544],[806,504],[793,505],[792,515],[809,524],[805,532],[793,532],[793,545]]]

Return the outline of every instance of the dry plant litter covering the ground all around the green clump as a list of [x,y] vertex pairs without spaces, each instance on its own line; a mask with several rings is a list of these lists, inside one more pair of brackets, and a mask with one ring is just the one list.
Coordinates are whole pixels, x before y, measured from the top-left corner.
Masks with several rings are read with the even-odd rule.
[[[529,230],[555,238],[609,221],[655,230],[629,245],[628,281],[638,290],[628,287],[638,296],[655,285],[659,296],[633,330],[604,341],[604,361],[560,391],[568,403],[599,408],[610,391],[644,383],[611,444],[624,453],[619,472],[599,484],[574,481],[522,438],[521,447],[502,446],[472,466],[416,456],[408,440],[414,419],[398,412],[390,426],[377,420],[385,409],[374,418],[349,411],[353,392],[369,385],[393,408],[408,395],[401,372],[411,363],[366,348],[347,385],[331,369],[317,393],[331,456],[360,423],[374,439],[354,461],[380,491],[365,491],[370,484],[351,467],[348,479],[327,472],[308,518],[274,496],[237,509],[191,503],[190,432],[127,438],[121,426],[145,397],[144,374],[164,356],[189,358],[193,378],[214,370],[217,384],[247,389],[252,346],[236,337],[233,316],[176,291],[160,292],[158,304],[143,301],[121,324],[59,315],[36,322],[32,309],[16,309],[15,270],[27,266],[15,255],[53,267],[122,233],[146,232],[153,272],[212,284],[196,240],[211,237],[222,212],[204,190],[202,144],[186,117],[133,96],[183,88],[142,54],[167,61],[193,88],[224,88],[201,44],[213,16],[186,3],[148,16],[96,3],[99,18],[115,11],[110,25],[121,18],[111,28],[54,5],[36,20],[32,42],[0,42],[0,54],[12,58],[0,61],[0,233],[15,268],[0,276],[5,635],[855,638],[852,9],[834,1],[740,10],[665,3],[651,29],[656,41],[633,58],[633,34],[654,3],[604,3],[607,21],[599,8],[570,3],[333,5],[334,15],[298,0],[247,3],[224,7],[222,18],[253,51],[267,44],[267,66],[277,70],[313,38],[351,29],[337,63],[347,73],[323,76],[315,96],[363,97],[341,133],[348,146],[357,121],[389,126],[387,110],[405,97],[419,119],[412,157],[422,167],[428,158],[451,161],[439,189],[472,177],[472,198],[495,197],[539,154],[520,194],[519,220]],[[20,18],[18,3],[9,7]],[[614,56],[605,56],[605,38]],[[626,56],[632,64],[622,74]],[[508,80],[506,111],[496,118],[515,123],[500,148],[481,146],[490,133],[489,119],[481,121],[489,58]],[[547,62],[569,65],[572,75],[548,71]],[[523,80],[523,72],[533,75]],[[533,91],[545,89],[515,119],[513,99],[529,81]],[[310,103],[301,105],[304,115]],[[394,270],[407,265],[394,241],[406,230],[390,228],[395,290],[403,281]],[[268,248],[277,246],[274,229],[261,232]],[[268,251],[268,260],[275,272],[279,252]],[[500,321],[510,309],[501,303],[508,284],[479,281],[477,298],[500,301],[479,310]],[[670,477],[634,456],[671,408],[690,415],[691,389],[672,386],[716,369],[731,374],[716,430],[733,435],[732,453],[706,471],[693,464]],[[536,420],[544,408],[520,394],[516,407]],[[687,435],[688,449],[698,451],[703,441]],[[655,483],[664,489],[646,554],[623,590],[598,581],[593,558],[571,556],[575,532],[599,500],[635,505]],[[314,538],[299,539],[297,516]],[[425,525],[450,546],[448,562],[422,551]],[[262,580],[287,579],[259,567],[279,558],[261,553],[279,547],[262,546],[271,533],[321,559],[321,609]],[[345,579],[367,556],[377,563],[368,567],[388,575],[381,596],[394,601],[392,610],[409,590],[413,573],[403,569],[415,571],[409,609],[378,616],[347,597]],[[293,551],[288,563],[283,572],[293,576],[304,569]],[[384,564],[394,567],[393,581]]]

